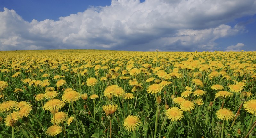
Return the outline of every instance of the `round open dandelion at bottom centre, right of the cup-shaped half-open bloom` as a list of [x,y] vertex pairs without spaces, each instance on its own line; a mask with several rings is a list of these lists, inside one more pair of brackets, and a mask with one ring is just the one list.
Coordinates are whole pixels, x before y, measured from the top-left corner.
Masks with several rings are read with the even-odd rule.
[[128,131],[136,130],[136,127],[141,124],[141,120],[138,116],[129,115],[124,119],[124,128]]

